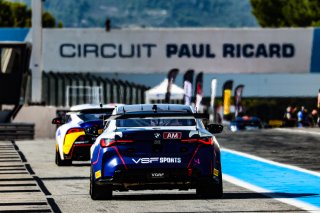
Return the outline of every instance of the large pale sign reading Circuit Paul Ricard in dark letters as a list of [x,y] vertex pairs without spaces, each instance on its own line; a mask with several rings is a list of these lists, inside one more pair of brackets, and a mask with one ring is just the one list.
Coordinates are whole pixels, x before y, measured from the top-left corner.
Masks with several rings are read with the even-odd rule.
[[313,29],[45,29],[43,39],[48,71],[307,73]]

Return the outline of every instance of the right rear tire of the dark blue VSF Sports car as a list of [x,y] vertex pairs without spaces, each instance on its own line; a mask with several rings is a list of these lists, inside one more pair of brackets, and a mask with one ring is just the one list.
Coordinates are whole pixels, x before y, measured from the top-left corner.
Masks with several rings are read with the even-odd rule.
[[219,183],[213,180],[199,181],[196,193],[203,198],[219,199],[223,197],[222,174],[219,175]]

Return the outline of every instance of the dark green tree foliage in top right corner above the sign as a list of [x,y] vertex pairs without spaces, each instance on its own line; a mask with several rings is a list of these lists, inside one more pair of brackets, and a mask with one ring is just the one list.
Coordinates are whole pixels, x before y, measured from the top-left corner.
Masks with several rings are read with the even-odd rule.
[[319,0],[250,0],[262,27],[320,26]]

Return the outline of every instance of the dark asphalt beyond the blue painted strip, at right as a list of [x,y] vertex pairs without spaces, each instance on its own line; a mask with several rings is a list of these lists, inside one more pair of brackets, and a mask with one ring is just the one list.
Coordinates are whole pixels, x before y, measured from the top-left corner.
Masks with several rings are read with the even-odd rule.
[[224,131],[217,138],[222,148],[320,172],[320,128]]

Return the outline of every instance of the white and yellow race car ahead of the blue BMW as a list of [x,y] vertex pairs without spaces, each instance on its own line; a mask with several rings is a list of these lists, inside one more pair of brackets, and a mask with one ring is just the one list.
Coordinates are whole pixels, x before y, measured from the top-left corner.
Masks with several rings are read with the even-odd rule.
[[56,157],[58,166],[71,165],[74,160],[90,160],[90,147],[103,131],[114,104],[81,104],[70,108],[63,117],[52,120],[56,130]]

